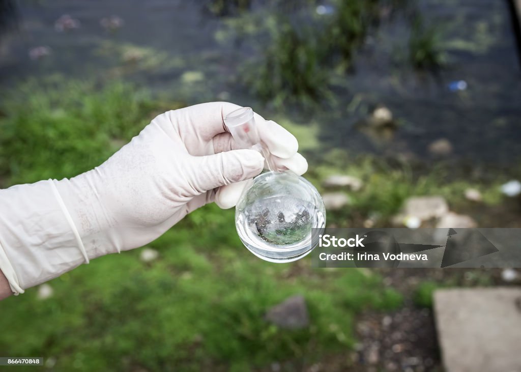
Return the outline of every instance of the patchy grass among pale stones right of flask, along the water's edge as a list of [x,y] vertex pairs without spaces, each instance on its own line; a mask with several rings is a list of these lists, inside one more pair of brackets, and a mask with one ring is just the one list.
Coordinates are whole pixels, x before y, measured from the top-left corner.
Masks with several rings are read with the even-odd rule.
[[[504,201],[500,191],[501,179],[492,183],[457,178],[448,181],[447,169],[433,167],[419,175],[407,164],[390,165],[371,155],[354,156],[341,149],[321,153],[319,164],[310,167],[306,178],[314,183],[321,193],[341,191],[350,196],[351,203],[328,212],[328,221],[343,227],[362,225],[367,218],[377,220],[378,226],[389,227],[392,217],[399,212],[404,201],[411,196],[441,195],[454,212],[475,206],[465,199],[466,189],[478,187],[482,193],[482,206],[499,205]],[[359,191],[325,189],[321,182],[330,175],[346,174],[360,178],[364,186]],[[479,186],[477,186],[479,185]]]

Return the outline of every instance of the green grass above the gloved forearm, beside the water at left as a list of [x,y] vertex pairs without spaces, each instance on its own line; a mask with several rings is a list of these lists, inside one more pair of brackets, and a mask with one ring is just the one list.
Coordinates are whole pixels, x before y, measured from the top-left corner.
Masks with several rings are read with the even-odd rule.
[[144,127],[147,93],[113,82],[29,81],[2,97],[0,175],[8,184],[75,176],[99,165]]

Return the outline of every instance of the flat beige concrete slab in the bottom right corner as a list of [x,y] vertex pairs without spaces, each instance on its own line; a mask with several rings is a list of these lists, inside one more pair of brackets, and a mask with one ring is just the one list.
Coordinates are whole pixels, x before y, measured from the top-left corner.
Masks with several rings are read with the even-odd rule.
[[521,288],[443,289],[434,313],[446,372],[521,371]]

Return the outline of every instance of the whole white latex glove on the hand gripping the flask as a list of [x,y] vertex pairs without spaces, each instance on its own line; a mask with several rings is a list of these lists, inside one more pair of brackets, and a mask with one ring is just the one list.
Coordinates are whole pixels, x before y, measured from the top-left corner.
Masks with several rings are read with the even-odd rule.
[[[22,293],[89,259],[147,244],[206,203],[235,205],[265,162],[238,150],[226,131],[223,118],[239,107],[168,111],[91,171],[1,190],[0,269],[11,289]],[[304,173],[293,135],[255,120],[276,162]]]

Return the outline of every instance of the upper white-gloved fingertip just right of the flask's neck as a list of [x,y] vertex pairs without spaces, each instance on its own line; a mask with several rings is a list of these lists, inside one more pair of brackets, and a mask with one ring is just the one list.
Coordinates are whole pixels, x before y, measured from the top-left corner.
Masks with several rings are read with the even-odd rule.
[[281,127],[273,120],[255,121],[257,122],[259,136],[268,146],[271,154],[288,159],[299,151],[299,142],[287,129]]

